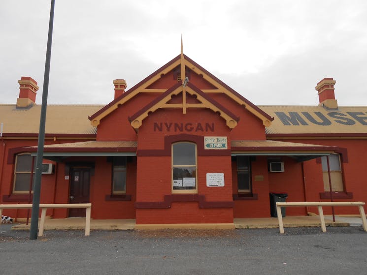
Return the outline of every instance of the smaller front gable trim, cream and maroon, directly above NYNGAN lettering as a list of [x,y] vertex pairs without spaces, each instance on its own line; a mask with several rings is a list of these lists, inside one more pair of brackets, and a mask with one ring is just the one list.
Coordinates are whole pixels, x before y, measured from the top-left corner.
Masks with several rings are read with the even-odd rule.
[[[182,93],[182,103],[168,103],[171,100],[172,95],[178,95],[179,93]],[[184,97],[186,97],[186,93],[189,93],[190,95],[196,95],[197,100],[200,103],[187,103],[184,99]],[[214,99],[210,98],[200,89],[195,87],[195,85],[188,83],[187,87],[185,87],[178,82],[176,85],[168,89],[140,111],[131,116],[129,118],[131,125],[135,130],[138,129],[141,126],[142,121],[148,117],[149,113],[155,112],[161,108],[181,108],[183,113],[186,113],[186,109],[189,108],[208,108],[213,112],[218,113],[219,116],[226,121],[227,126],[231,129],[233,129],[239,121],[239,118],[237,118],[233,113],[220,105]]]

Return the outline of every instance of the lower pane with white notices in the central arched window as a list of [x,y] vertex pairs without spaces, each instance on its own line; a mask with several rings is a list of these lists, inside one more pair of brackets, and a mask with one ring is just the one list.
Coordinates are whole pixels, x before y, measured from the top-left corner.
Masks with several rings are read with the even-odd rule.
[[173,190],[196,189],[196,167],[173,168]]

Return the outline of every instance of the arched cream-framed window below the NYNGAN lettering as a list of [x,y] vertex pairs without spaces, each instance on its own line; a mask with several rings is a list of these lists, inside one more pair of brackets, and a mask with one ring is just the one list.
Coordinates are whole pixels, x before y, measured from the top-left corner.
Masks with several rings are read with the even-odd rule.
[[[197,192],[196,144],[178,142],[172,144],[172,192]],[[187,191],[190,190],[190,191]]]

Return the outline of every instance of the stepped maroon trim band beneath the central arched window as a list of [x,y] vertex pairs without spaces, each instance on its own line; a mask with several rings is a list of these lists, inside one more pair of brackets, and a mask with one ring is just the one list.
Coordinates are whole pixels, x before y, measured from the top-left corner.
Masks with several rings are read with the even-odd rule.
[[199,208],[233,208],[233,201],[205,201],[204,195],[172,194],[165,195],[163,202],[135,202],[136,209],[169,209],[173,202],[198,202]]

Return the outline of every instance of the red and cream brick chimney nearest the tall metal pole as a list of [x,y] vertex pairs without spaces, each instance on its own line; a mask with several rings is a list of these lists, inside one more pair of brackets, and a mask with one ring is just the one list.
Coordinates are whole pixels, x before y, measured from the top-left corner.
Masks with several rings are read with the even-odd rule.
[[16,107],[27,108],[31,105],[35,105],[35,96],[39,89],[37,82],[29,76],[22,76],[22,78],[18,80],[18,83],[20,87]]

